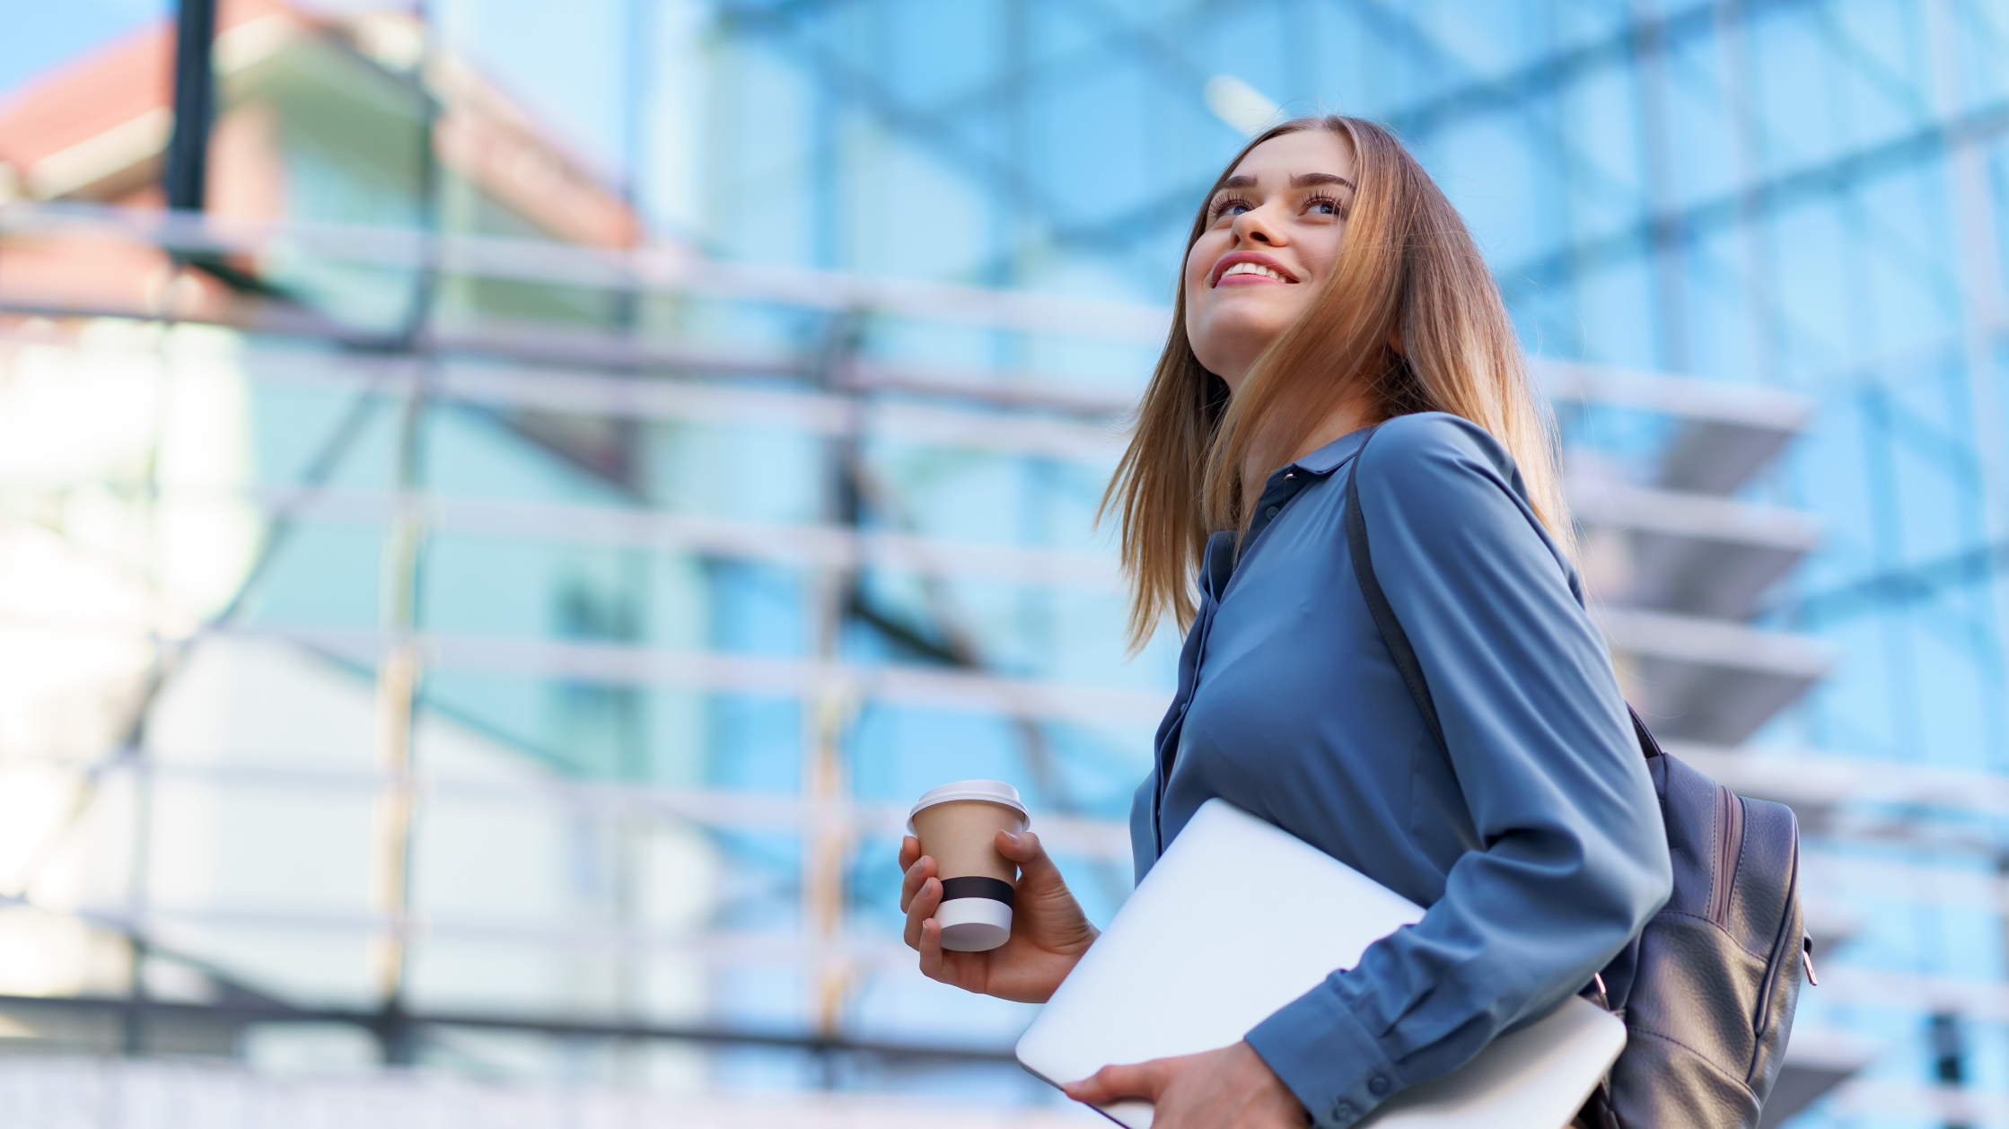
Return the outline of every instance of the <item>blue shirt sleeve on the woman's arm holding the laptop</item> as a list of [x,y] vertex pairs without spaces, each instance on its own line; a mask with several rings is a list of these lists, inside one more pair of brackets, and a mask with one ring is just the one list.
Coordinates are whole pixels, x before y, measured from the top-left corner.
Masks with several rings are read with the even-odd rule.
[[1422,663],[1481,848],[1420,922],[1250,1031],[1322,1129],[1583,990],[1671,888],[1609,651],[1513,458],[1432,412],[1384,424],[1342,472],[1360,474],[1374,575]]

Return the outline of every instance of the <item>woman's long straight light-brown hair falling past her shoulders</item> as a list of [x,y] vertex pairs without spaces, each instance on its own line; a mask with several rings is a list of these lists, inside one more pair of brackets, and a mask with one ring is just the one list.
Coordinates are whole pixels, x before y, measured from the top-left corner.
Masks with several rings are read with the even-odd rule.
[[1358,191],[1332,275],[1310,309],[1256,358],[1234,398],[1193,356],[1181,281],[1171,335],[1103,492],[1101,512],[1115,510],[1123,526],[1133,651],[1165,615],[1181,629],[1193,621],[1193,573],[1207,534],[1246,530],[1244,502],[1356,396],[1370,422],[1450,412],[1491,432],[1521,466],[1535,516],[1573,548],[1555,432],[1529,388],[1507,305],[1465,221],[1392,133],[1328,115],[1256,137],[1199,201],[1187,255],[1207,229],[1209,201],[1242,159],[1272,137],[1308,129],[1340,135],[1354,155]]

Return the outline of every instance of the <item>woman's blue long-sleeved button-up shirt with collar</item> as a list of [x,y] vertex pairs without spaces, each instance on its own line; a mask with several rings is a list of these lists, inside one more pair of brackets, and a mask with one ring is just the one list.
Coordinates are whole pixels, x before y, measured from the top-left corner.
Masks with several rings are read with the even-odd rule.
[[[1579,992],[1671,882],[1609,651],[1513,458],[1440,412],[1380,426],[1358,466],[1366,436],[1272,474],[1240,560],[1207,540],[1131,806],[1139,880],[1219,796],[1426,906],[1248,1033],[1322,1129]],[[1348,474],[1448,757],[1354,579]]]

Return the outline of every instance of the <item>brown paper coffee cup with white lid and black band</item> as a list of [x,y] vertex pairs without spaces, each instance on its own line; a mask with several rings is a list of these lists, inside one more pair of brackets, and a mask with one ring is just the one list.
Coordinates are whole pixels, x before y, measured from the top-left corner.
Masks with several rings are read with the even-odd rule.
[[1011,904],[1019,866],[998,854],[998,832],[1033,824],[1019,789],[996,779],[958,779],[928,789],[906,816],[920,854],[934,858],[942,880],[942,948],[982,952],[1011,940]]

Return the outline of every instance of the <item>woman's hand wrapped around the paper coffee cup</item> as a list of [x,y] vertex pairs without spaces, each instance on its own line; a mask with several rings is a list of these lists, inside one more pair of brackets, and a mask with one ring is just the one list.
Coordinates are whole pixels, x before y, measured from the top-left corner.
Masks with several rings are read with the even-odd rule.
[[934,858],[920,854],[920,840],[900,844],[900,908],[906,910],[906,946],[920,950],[920,972],[968,992],[1041,1004],[1095,942],[1095,926],[1061,880],[1033,832],[998,832],[998,854],[1019,864],[1013,896],[1011,940],[988,952],[942,950],[942,880]]

